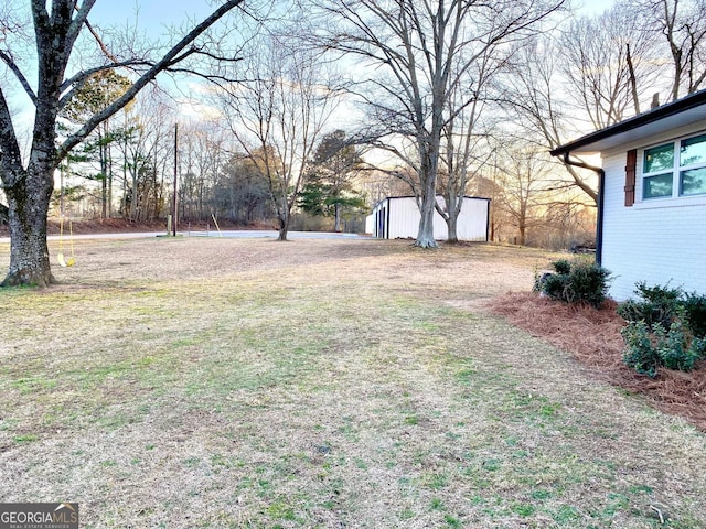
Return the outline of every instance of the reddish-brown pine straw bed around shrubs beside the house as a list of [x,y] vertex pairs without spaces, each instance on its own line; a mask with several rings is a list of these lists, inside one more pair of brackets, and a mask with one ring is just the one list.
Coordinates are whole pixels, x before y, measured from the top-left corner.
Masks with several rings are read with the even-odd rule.
[[622,361],[624,322],[614,302],[600,310],[565,303],[536,293],[509,293],[490,302],[490,310],[534,336],[571,354],[595,375],[629,391],[645,396],[655,408],[680,415],[706,432],[706,360],[692,373],[660,368],[651,379]]

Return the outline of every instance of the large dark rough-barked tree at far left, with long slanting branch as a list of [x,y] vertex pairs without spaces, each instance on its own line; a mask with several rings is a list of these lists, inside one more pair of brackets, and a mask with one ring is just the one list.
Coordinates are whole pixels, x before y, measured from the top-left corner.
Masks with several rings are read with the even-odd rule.
[[[160,58],[145,56],[124,58],[107,54],[101,64],[77,68],[72,55],[82,33],[88,31],[88,15],[96,0],[30,0],[33,24],[31,48],[21,47],[20,33],[13,41],[11,33],[4,35],[0,47],[0,61],[14,76],[17,85],[24,91],[34,107],[34,125],[29,155],[22,155],[19,131],[12,119],[8,102],[9,84],[0,85],[0,176],[2,190],[9,203],[10,269],[1,285],[36,284],[53,282],[46,244],[46,217],[54,187],[54,171],[68,151],[82,142],[99,123],[125,107],[159,73],[176,68],[176,65],[204,50],[194,42],[226,13],[244,0],[226,0],[201,23],[167,51]],[[3,28],[11,28],[3,23]],[[34,61],[25,61],[28,54]],[[108,56],[110,55],[110,56]],[[69,64],[73,66],[69,68]],[[29,68],[35,68],[30,75]],[[66,76],[67,72],[76,73]],[[56,122],[61,110],[73,99],[86,80],[98,72],[131,67],[136,79],[125,94],[105,109],[88,117],[83,127],[72,132],[60,144],[56,143]],[[36,85],[32,86],[33,79]]]

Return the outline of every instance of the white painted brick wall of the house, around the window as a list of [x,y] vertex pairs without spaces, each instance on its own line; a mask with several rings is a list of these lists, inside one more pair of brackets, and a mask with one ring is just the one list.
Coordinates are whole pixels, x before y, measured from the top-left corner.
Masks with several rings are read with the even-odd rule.
[[635,204],[624,206],[627,151],[698,130],[692,129],[665,132],[655,137],[654,142],[628,144],[603,153],[602,264],[613,273],[610,294],[617,301],[634,296],[638,281],[649,285],[670,283],[706,293],[706,197],[643,202],[639,151]]

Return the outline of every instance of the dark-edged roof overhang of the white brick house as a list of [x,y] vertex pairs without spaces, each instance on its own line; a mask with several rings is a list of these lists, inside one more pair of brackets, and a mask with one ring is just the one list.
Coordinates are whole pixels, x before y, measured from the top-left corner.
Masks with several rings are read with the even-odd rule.
[[706,120],[706,90],[696,91],[649,112],[611,125],[569,143],[557,147],[550,154],[592,154],[623,143],[646,139],[668,129],[676,129]]

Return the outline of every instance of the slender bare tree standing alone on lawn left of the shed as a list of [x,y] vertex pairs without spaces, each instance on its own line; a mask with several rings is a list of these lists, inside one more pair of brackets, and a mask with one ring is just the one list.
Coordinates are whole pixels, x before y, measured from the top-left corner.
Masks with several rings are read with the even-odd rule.
[[220,101],[239,148],[267,176],[278,239],[287,240],[307,164],[340,94],[311,50],[277,35],[253,44],[244,80],[223,84]]

